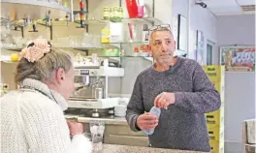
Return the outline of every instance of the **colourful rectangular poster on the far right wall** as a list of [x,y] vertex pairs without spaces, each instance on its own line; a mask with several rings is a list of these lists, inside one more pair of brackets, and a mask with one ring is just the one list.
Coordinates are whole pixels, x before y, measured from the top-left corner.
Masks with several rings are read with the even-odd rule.
[[220,64],[230,72],[254,72],[255,46],[221,46]]

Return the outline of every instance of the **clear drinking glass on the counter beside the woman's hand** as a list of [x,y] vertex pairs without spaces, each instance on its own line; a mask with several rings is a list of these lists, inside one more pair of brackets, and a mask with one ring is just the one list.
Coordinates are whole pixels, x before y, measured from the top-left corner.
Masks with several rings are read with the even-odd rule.
[[93,151],[99,151],[103,149],[103,135],[105,130],[105,123],[103,121],[91,121],[90,132],[93,143]]

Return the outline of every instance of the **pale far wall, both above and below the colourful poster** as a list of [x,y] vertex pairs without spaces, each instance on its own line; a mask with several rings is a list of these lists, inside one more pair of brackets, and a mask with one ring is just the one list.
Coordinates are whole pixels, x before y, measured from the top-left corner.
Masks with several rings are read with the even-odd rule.
[[[224,15],[217,19],[218,46],[255,46],[255,15]],[[255,118],[255,74],[226,72],[225,153],[240,153],[241,123]]]

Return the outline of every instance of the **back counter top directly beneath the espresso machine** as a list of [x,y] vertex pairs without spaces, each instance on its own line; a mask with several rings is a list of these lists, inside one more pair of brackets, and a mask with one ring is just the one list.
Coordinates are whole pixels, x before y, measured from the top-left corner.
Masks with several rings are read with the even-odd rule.
[[65,115],[67,119],[76,119],[80,123],[89,123],[90,121],[104,121],[105,124],[114,124],[114,125],[128,125],[125,117],[105,117],[105,118],[93,118],[93,117],[81,117],[81,116],[71,116]]

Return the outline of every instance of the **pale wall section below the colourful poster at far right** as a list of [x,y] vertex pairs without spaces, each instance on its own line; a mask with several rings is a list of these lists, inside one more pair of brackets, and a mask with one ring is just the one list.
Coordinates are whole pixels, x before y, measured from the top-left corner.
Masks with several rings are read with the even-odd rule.
[[255,73],[225,74],[225,153],[241,153],[242,121],[255,118]]

